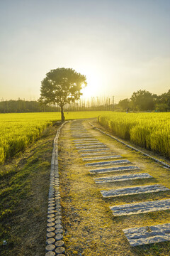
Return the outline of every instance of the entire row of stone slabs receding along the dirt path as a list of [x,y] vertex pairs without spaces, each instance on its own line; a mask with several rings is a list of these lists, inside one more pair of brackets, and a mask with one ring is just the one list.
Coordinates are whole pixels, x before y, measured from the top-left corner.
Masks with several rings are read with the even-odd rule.
[[[128,159],[121,160],[111,160],[115,158],[121,158],[122,156],[116,155],[111,149],[105,144],[96,139],[84,126],[81,121],[75,121],[71,124],[72,142],[74,149],[79,151],[81,159],[83,161],[89,161],[85,164],[86,168],[106,165],[112,166],[109,168],[91,169],[90,174],[109,174],[121,171],[140,171],[138,166],[133,166]],[[84,158],[85,157],[85,158]],[[108,160],[108,161],[101,161]],[[92,162],[91,161],[95,161]],[[119,166],[117,166],[119,165]],[[145,181],[147,178],[154,178],[147,173],[139,174],[123,174],[115,176],[104,176],[100,178],[94,178],[96,184],[102,183],[115,183],[121,181],[132,181],[140,180]],[[130,186],[121,187],[118,189],[111,189],[108,191],[101,191],[103,198],[109,197],[119,197],[119,196],[131,196],[141,193],[156,193],[159,191],[169,191],[169,188],[162,186],[160,184],[152,184],[149,186]],[[111,211],[114,216],[126,216],[141,213],[154,212],[158,210],[170,209],[170,199],[157,200],[157,201],[145,201],[128,203],[124,205],[111,206]],[[130,245],[145,245],[152,242],[162,242],[170,240],[170,223],[165,223],[163,225],[155,225],[150,227],[140,227],[140,228],[130,228],[125,229],[123,232],[128,238]]]

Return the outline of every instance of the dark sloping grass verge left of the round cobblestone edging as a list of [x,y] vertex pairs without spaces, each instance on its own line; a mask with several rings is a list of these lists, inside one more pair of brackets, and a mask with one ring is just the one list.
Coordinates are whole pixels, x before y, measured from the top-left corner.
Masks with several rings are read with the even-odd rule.
[[45,254],[52,143],[49,127],[18,158],[0,166],[0,255]]

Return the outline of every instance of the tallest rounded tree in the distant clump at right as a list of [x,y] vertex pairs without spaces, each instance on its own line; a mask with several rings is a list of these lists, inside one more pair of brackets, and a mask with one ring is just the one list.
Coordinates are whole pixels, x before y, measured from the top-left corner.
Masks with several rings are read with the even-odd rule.
[[135,110],[154,110],[154,100],[157,95],[152,95],[152,93],[146,90],[138,90],[133,92],[130,98],[132,107]]

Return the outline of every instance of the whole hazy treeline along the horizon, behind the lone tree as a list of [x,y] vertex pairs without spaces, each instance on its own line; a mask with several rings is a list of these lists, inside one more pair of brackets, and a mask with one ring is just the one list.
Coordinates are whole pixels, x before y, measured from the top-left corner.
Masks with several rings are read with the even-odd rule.
[[[64,105],[64,111],[155,111],[170,112],[170,90],[162,95],[147,90],[133,92],[130,99],[114,104],[114,97],[91,97]],[[32,100],[1,100],[0,113],[60,112],[59,106],[44,105]]]

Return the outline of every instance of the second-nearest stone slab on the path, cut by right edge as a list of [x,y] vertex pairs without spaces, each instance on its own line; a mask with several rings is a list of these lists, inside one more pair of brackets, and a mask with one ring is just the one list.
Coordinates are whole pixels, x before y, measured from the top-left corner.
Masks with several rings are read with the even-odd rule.
[[149,213],[157,210],[170,210],[170,199],[128,203],[120,206],[111,206],[110,209],[114,216]]

